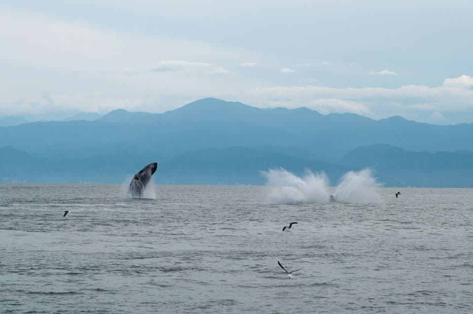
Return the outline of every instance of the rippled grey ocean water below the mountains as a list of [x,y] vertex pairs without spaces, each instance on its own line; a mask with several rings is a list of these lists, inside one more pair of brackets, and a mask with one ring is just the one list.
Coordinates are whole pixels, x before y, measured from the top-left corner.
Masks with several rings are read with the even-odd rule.
[[0,313],[473,313],[471,189],[154,188],[1,184]]

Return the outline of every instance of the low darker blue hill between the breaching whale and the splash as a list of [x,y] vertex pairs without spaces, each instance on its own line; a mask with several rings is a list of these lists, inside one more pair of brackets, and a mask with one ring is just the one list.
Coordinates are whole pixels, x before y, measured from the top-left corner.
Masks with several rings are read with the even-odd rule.
[[298,175],[325,172],[337,183],[349,169],[320,161],[294,158],[247,147],[187,152],[158,164],[155,181],[167,184],[265,184],[260,171],[284,168]]

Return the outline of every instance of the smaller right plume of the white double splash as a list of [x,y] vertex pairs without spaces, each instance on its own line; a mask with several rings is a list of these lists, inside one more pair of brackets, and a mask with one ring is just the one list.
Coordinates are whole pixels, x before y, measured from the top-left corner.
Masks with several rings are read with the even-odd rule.
[[350,171],[343,176],[334,197],[347,203],[377,203],[381,200],[376,191],[378,186],[370,169]]

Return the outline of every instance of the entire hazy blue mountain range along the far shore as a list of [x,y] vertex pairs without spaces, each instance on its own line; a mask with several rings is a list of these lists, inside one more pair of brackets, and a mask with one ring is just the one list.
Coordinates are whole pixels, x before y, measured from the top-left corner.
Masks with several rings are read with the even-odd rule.
[[472,131],[205,98],[164,114],[0,127],[0,181],[122,183],[156,161],[157,183],[264,184],[260,171],[282,167],[324,171],[336,184],[371,167],[386,186],[473,187]]

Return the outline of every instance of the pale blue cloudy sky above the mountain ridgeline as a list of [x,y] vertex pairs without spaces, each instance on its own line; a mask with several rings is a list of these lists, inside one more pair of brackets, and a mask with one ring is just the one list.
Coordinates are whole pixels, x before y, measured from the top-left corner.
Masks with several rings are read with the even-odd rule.
[[205,97],[473,122],[471,0],[0,0],[0,117]]

